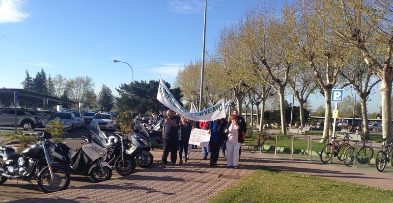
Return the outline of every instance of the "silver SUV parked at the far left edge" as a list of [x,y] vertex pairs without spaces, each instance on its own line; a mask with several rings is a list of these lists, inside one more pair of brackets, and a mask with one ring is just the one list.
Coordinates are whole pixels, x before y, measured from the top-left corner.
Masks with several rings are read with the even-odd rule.
[[[1,126],[15,126],[15,108],[6,108],[0,110]],[[17,108],[16,109],[16,125],[23,127],[27,124],[31,128],[41,126],[41,118],[33,111]]]

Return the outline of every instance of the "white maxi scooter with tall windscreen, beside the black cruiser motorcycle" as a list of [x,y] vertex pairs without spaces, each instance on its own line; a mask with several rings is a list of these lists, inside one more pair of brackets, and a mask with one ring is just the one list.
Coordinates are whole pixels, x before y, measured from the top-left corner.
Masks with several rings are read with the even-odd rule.
[[87,134],[79,149],[71,149],[61,142],[55,143],[53,161],[61,164],[71,174],[89,176],[93,182],[101,182],[112,178],[112,167],[107,162],[106,140],[97,122],[92,121],[85,126]]

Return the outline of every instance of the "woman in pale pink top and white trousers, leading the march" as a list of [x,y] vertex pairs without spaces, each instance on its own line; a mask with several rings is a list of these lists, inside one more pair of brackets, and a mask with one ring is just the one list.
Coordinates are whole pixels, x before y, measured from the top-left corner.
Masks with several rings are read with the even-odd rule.
[[241,146],[240,125],[235,115],[232,115],[231,122],[225,127],[226,138],[226,161],[228,168],[239,167],[239,150]]

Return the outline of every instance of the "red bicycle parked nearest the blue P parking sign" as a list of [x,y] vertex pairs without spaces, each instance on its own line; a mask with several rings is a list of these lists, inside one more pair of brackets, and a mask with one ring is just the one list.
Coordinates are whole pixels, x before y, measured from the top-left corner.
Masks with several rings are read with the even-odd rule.
[[344,139],[342,139],[342,141],[335,141],[337,137],[332,137],[332,143],[328,143],[325,145],[325,147],[323,147],[322,152],[319,155],[323,163],[327,163],[332,158],[332,147],[333,156],[337,156],[338,160],[342,161],[342,155],[344,154],[345,150],[351,145],[348,143],[350,137],[348,133],[341,134],[344,135]]

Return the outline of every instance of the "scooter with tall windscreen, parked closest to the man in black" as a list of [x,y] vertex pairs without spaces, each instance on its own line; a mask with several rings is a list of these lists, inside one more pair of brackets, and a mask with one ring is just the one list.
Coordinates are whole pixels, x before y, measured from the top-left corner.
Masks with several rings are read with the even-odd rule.
[[142,145],[142,149],[136,154],[135,160],[137,165],[141,168],[149,168],[151,164],[153,164],[153,154],[150,152],[151,142],[149,133],[146,129],[137,121],[134,122],[134,132],[132,135],[135,138],[135,141]]

